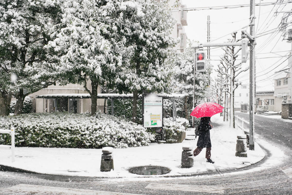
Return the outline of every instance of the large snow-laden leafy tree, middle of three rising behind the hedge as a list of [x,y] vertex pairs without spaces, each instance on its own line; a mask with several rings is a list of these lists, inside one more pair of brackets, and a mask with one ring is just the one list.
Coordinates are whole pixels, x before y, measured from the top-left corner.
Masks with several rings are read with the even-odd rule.
[[68,82],[84,85],[91,95],[92,115],[98,86],[106,83],[107,88],[114,88],[123,82],[133,54],[125,35],[140,30],[136,19],[143,16],[137,1],[66,0],[62,5],[59,25],[63,27],[52,32],[56,39],[48,43],[59,54],[49,58],[56,60],[55,66]]

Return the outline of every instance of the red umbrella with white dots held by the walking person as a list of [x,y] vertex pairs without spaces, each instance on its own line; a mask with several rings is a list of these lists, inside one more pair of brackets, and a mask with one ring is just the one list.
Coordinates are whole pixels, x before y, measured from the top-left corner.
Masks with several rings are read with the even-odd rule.
[[204,116],[213,116],[214,114],[222,112],[223,107],[219,104],[214,102],[206,102],[199,104],[195,107],[193,112],[190,116],[195,116],[197,118],[204,117]]

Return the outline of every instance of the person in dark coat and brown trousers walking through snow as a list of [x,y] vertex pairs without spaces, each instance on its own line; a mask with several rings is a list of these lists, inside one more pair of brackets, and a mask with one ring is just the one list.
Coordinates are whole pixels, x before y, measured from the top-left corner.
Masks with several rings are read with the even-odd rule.
[[211,117],[201,117],[200,126],[199,126],[199,139],[197,142],[197,148],[194,150],[194,156],[197,156],[203,148],[206,148],[206,159],[208,163],[214,163],[210,159],[211,157],[211,139],[210,139],[210,129],[213,128],[210,125]]

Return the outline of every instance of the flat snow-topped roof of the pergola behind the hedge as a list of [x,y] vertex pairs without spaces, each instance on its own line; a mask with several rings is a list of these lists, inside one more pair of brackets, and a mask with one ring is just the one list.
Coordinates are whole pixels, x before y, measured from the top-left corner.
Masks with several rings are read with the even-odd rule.
[[[158,97],[163,97],[164,99],[181,99],[185,97],[185,94],[155,94]],[[77,99],[86,99],[91,98],[89,93],[60,93],[60,94],[46,94],[46,95],[37,95],[36,98],[77,98]],[[132,99],[133,94],[118,94],[118,93],[98,93],[98,99],[108,98],[108,99]],[[142,99],[142,94],[139,95],[139,99]]]

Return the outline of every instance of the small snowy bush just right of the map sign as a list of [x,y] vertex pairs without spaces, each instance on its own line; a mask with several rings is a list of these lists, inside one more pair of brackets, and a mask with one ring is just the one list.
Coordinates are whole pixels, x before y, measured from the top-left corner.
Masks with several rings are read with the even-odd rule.
[[178,132],[185,131],[185,127],[180,124],[179,121],[173,121],[171,118],[163,119],[163,129],[165,130],[165,138],[167,143],[173,143],[177,140],[173,138],[173,136],[177,135]]

